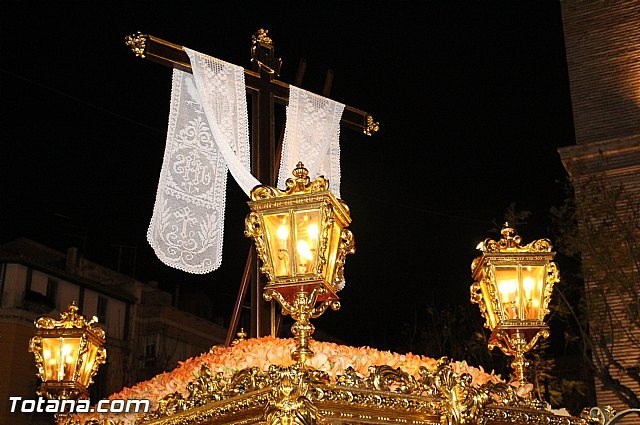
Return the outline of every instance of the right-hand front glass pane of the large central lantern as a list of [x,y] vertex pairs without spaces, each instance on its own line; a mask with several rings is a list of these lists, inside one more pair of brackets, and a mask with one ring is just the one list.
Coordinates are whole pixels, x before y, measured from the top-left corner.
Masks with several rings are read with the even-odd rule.
[[296,272],[315,273],[320,241],[320,211],[294,212],[296,222]]

